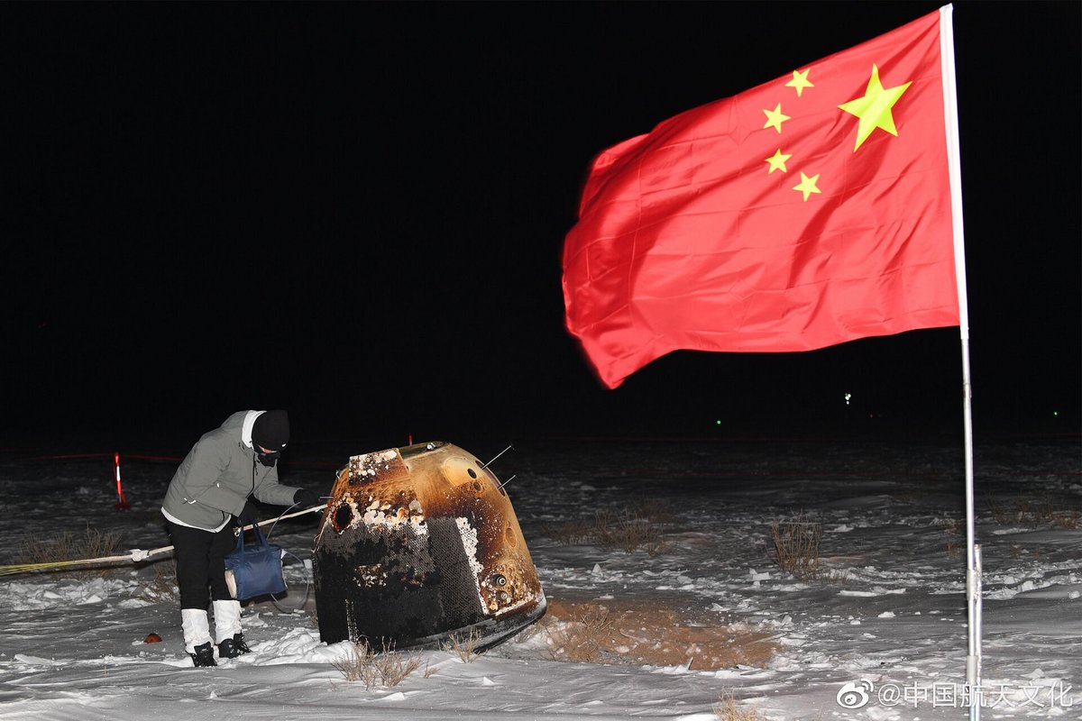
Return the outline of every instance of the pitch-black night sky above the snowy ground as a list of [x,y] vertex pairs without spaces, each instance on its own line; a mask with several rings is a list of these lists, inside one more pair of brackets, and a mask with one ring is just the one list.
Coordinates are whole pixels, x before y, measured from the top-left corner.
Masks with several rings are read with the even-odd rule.
[[[2,445],[961,436],[958,329],[610,391],[560,291],[596,152],[937,8],[4,3]],[[978,439],[1080,429],[1080,29],[954,5]]]

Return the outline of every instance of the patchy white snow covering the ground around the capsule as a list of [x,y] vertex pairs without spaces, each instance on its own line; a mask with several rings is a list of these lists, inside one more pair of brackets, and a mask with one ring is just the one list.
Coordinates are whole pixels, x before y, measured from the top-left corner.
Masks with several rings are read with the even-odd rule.
[[[320,641],[309,598],[292,613],[246,604],[252,653],[195,669],[183,651],[174,590],[161,580],[168,557],[81,574],[6,575],[0,720],[705,721],[725,718],[714,708],[728,694],[738,709],[779,721],[967,718],[960,708],[960,443],[547,440],[515,449],[494,470],[516,475],[506,490],[551,610],[496,649],[473,659],[419,652],[420,669],[400,684],[368,689],[335,667],[352,646]],[[329,488],[326,468],[371,450],[341,449],[320,458],[330,462],[322,467],[299,458],[282,473],[292,484]],[[975,451],[985,719],[1082,718],[1080,450],[1070,437],[978,443]],[[117,510],[111,453],[0,454],[0,564],[18,562],[28,539],[88,528],[122,534],[115,553],[168,545],[158,507],[173,464],[124,463],[131,508]],[[656,513],[658,548],[572,544],[556,531],[630,509]],[[793,520],[821,529],[817,574],[796,577],[771,556],[773,522]],[[273,538],[306,558],[316,522],[282,521]],[[290,565],[288,576],[300,597],[303,564]],[[575,620],[558,615],[560,604],[636,615],[619,616],[619,644],[582,662],[570,649]],[[162,641],[144,642],[149,633]],[[760,649],[773,653],[703,666],[707,645],[718,639],[715,657],[741,651],[740,643],[768,644]],[[724,647],[726,639],[734,647]],[[676,660],[649,655],[665,644],[676,646]],[[843,687],[846,699],[862,693],[867,703],[843,707]]]

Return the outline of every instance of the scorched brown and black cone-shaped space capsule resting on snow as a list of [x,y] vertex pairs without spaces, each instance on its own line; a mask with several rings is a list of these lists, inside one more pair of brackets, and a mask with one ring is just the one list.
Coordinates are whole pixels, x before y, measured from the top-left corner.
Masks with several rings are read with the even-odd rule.
[[352,456],[313,558],[327,643],[436,646],[476,632],[488,646],[545,611],[506,492],[441,441]]

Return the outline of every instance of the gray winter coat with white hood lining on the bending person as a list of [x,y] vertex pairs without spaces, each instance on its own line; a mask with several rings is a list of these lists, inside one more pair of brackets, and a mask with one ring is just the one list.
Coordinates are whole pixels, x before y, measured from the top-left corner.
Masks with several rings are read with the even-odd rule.
[[278,483],[278,469],[267,468],[252,450],[249,414],[238,411],[221,427],[204,433],[181,462],[166,491],[162,510],[198,529],[211,531],[237,516],[249,495],[266,504],[289,506],[295,488]]

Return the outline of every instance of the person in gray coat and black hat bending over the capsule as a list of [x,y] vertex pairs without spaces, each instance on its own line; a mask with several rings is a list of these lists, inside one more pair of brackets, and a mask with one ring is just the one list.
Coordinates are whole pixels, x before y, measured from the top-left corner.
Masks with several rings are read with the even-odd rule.
[[212,642],[220,658],[251,651],[240,627],[240,602],[225,580],[225,556],[236,546],[234,519],[243,528],[258,518],[250,497],[274,506],[319,503],[314,491],[278,482],[275,465],[287,443],[286,411],[238,411],[196,442],[166,491],[161,512],[176,556],[184,645],[196,666],[216,666]]

